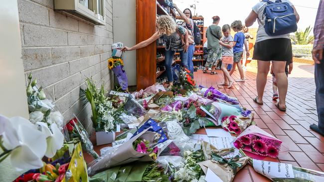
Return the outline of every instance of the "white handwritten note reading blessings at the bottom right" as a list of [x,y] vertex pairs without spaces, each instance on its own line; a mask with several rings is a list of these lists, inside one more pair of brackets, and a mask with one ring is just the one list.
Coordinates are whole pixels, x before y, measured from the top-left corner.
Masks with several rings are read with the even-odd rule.
[[291,164],[253,159],[253,168],[261,175],[272,178],[295,178]]

